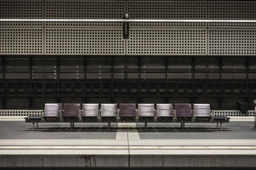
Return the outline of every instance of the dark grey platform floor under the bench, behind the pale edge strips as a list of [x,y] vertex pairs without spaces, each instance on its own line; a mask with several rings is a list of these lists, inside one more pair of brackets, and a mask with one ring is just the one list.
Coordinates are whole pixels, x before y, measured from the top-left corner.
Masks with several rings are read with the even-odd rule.
[[148,123],[147,130],[144,129],[144,123],[137,123],[134,128],[127,128],[125,123],[119,124],[117,126],[117,123],[112,123],[112,128],[107,130],[107,123],[75,123],[75,128],[70,130],[69,123],[39,123],[39,128],[32,130],[31,123],[0,121],[0,139],[114,140],[117,130],[137,130],[142,140],[256,139],[254,123],[249,121],[224,123],[221,131],[216,129],[216,123],[186,123],[185,130],[180,128],[180,123]]

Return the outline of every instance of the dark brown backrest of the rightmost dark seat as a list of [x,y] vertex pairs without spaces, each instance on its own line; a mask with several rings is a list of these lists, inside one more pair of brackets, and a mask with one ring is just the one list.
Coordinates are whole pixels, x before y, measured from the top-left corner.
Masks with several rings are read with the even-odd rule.
[[191,104],[190,103],[175,103],[174,109],[176,111],[176,117],[191,117]]

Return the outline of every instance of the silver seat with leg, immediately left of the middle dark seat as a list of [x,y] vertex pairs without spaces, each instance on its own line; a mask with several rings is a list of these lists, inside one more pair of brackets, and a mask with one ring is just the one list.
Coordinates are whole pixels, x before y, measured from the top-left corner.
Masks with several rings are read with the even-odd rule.
[[117,103],[101,104],[100,120],[101,122],[107,122],[107,128],[110,129],[110,122],[117,121]]

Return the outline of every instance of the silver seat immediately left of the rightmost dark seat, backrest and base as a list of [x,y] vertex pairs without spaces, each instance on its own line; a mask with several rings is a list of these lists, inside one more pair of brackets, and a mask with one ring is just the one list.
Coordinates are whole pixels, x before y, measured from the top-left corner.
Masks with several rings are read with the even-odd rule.
[[174,118],[173,104],[156,104],[157,122],[172,122]]

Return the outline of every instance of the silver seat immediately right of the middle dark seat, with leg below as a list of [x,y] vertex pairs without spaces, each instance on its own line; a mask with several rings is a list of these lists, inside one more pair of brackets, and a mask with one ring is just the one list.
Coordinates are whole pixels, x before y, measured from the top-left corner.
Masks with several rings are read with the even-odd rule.
[[156,121],[156,110],[154,108],[153,103],[147,103],[147,104],[138,104],[138,118],[139,122],[145,123],[145,128],[147,128],[147,123]]

